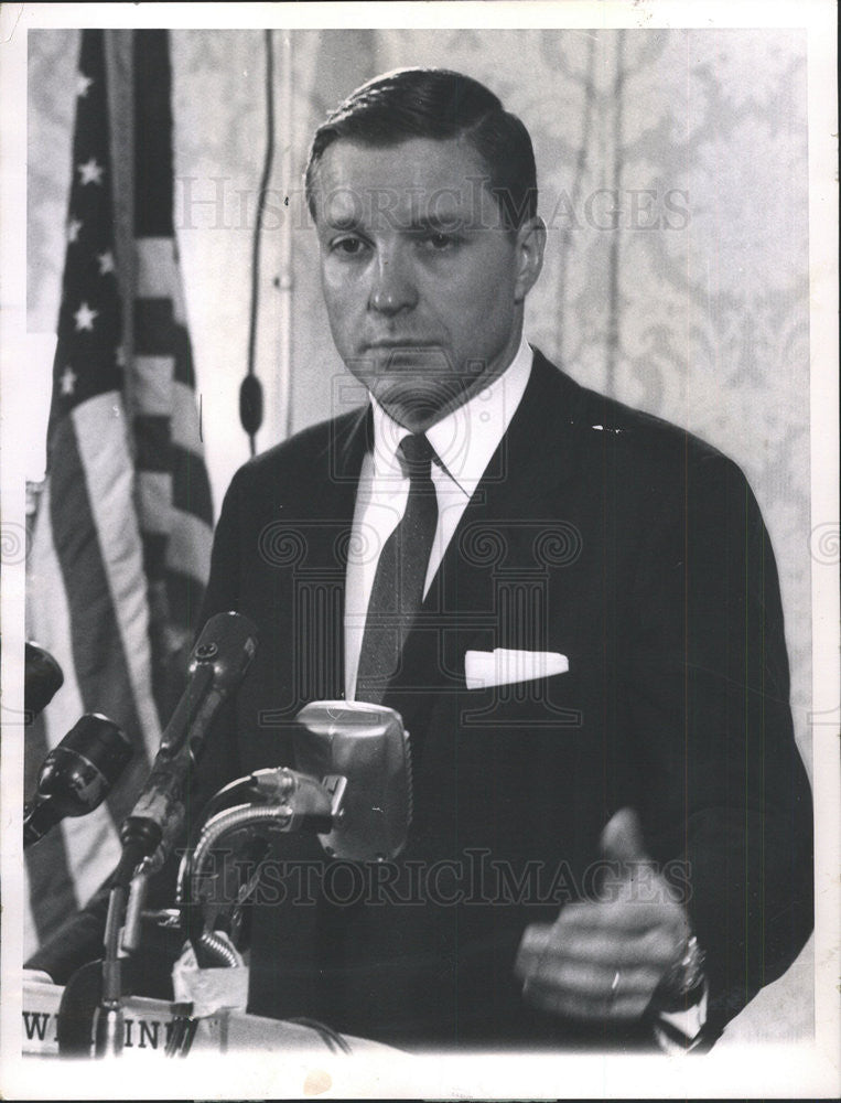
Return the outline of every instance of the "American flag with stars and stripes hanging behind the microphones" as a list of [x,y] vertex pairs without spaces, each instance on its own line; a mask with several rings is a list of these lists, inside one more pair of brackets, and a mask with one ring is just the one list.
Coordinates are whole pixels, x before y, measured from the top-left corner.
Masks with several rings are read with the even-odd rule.
[[[105,805],[26,852],[24,954],[117,863],[119,824],[157,752],[209,568],[170,86],[165,31],[82,32],[47,475],[28,583],[28,634],[55,655],[65,684],[31,729],[26,792],[83,713],[119,724],[136,753]],[[132,150],[128,165],[115,165],[115,142]]]

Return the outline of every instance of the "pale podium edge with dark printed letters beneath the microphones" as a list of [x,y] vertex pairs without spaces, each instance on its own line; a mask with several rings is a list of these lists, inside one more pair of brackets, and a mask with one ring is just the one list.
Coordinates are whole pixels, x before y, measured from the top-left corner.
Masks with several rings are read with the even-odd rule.
[[[55,984],[25,981],[23,984],[23,1053],[31,1057],[58,1057],[58,1005],[64,988]],[[163,1058],[166,1042],[175,1029],[176,1007],[163,999],[132,996],[125,1003],[123,1052],[149,1053],[150,1060]],[[351,1053],[391,1053],[390,1046],[343,1035]],[[227,1053],[259,1049],[261,1053],[291,1054],[331,1051],[328,1039],[317,1029],[300,1022],[268,1019],[245,1011],[220,1010],[198,1019],[195,1035],[185,1054]],[[184,1056],[184,1054],[180,1054]]]

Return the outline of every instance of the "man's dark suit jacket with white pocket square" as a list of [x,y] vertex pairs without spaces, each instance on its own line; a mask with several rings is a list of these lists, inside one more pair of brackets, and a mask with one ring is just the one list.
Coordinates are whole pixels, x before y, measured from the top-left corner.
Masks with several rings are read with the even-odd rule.
[[[231,483],[203,620],[247,614],[259,649],[208,741],[196,811],[231,778],[291,763],[296,711],[343,695],[369,433],[366,411],[339,417]],[[569,672],[468,690],[466,651],[496,647],[560,652]],[[411,737],[406,852],[359,875],[280,840],[254,910],[251,1010],[397,1045],[573,1038],[524,1005],[514,959],[527,923],[594,891],[600,833],[624,805],[707,950],[712,1030],[793,961],[811,929],[811,800],[774,555],[730,460],[537,353],[403,658],[385,704]]]

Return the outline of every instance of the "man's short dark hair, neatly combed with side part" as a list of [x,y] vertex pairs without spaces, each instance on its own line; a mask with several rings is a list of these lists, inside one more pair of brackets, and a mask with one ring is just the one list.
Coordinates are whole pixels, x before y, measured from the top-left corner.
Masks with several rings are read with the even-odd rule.
[[315,172],[339,138],[396,146],[410,138],[463,138],[487,169],[487,188],[507,229],[537,214],[537,172],[531,138],[478,81],[441,68],[402,68],[374,77],[327,116],[313,137],[306,162],[306,203],[315,214]]

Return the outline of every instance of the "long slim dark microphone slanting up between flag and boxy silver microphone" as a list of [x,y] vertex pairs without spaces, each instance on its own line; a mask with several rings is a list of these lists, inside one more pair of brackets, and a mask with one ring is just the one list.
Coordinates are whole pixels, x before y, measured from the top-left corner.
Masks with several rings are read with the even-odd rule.
[[151,773],[120,828],[131,861],[158,853],[163,860],[184,818],[190,772],[222,704],[239,686],[257,650],[257,629],[239,613],[217,613],[202,629],[190,656],[187,685],[161,737]]

